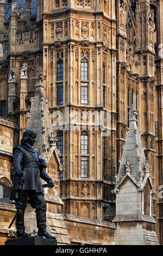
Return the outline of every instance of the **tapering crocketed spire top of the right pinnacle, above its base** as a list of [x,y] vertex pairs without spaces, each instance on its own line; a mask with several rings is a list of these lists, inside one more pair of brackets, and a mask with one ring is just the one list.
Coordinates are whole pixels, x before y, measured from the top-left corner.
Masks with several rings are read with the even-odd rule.
[[[124,145],[122,159],[120,159],[120,168],[116,175],[116,186],[114,192],[118,189],[127,175],[135,182],[137,187],[142,190],[147,178],[150,176],[148,161],[145,159],[144,147],[141,143],[141,133],[137,130],[137,111],[134,105],[130,108],[130,126],[127,131],[126,144]],[[148,169],[148,170],[147,170]],[[151,179],[150,179],[151,181]]]

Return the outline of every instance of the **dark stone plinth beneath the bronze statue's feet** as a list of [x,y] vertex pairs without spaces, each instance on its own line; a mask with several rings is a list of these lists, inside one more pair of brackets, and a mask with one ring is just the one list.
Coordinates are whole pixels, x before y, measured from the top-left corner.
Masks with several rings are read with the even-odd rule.
[[16,237],[5,241],[5,245],[57,245],[56,239],[49,239],[42,236],[27,236]]

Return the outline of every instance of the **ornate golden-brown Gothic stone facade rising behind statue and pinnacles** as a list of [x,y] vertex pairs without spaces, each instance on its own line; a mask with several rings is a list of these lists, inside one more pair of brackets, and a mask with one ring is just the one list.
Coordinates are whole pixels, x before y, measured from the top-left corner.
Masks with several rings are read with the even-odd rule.
[[[14,2],[11,11],[8,2]],[[158,193],[152,214],[162,244],[162,0],[26,0],[24,10],[20,2],[16,8],[15,1],[0,0],[2,117],[17,124],[20,141],[35,94],[33,76],[41,65],[65,167],[60,172],[61,212],[69,224],[72,215],[112,221],[111,191],[134,104]],[[22,80],[24,62],[28,79]],[[104,117],[98,127],[95,113]],[[66,125],[67,116],[71,125]]]

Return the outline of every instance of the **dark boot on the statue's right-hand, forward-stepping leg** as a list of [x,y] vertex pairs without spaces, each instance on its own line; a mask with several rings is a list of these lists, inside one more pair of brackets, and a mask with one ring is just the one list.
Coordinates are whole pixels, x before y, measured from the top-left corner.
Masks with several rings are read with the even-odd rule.
[[55,236],[52,236],[46,230],[46,210],[36,210],[36,220],[37,220],[37,228],[39,231],[37,235],[44,236],[50,239],[56,239]]

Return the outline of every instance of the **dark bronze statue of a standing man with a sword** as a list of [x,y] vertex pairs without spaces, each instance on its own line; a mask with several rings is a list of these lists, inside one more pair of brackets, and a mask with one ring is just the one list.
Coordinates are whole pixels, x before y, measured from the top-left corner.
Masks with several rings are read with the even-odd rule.
[[[36,221],[39,236],[55,239],[46,230],[46,202],[43,196],[43,188],[40,178],[45,180],[51,187],[54,186],[52,179],[46,173],[45,160],[39,158],[39,152],[33,147],[37,133],[26,130],[21,139],[21,145],[13,149],[14,154],[14,186],[10,199],[15,200],[16,206],[16,234],[17,237],[27,235],[24,233],[24,211],[27,203],[36,209]],[[21,179],[24,183],[21,185]]]

